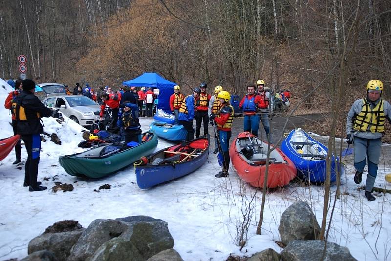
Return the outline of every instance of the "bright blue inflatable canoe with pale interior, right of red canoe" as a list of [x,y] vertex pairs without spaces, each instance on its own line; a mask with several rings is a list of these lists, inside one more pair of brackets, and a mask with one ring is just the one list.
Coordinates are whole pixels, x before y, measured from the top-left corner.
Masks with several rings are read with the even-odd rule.
[[[326,156],[328,148],[316,141],[302,129],[292,130],[282,141],[281,150],[295,164],[297,176],[311,183],[324,183],[326,181]],[[338,157],[332,157],[331,182],[336,178],[336,162]],[[335,162],[336,161],[336,162]]]

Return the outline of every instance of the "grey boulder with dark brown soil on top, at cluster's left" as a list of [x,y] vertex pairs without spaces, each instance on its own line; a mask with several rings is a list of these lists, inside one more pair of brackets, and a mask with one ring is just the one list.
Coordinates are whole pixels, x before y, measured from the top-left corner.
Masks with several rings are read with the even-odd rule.
[[40,250],[50,250],[59,261],[66,260],[72,246],[78,241],[85,228],[42,234],[28,243],[28,254]]

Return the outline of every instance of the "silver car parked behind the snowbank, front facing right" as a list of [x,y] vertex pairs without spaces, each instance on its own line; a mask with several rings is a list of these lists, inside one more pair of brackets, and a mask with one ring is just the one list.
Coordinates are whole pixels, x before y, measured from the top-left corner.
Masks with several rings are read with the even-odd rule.
[[43,104],[59,111],[82,126],[99,122],[100,105],[83,95],[56,95],[47,97]]

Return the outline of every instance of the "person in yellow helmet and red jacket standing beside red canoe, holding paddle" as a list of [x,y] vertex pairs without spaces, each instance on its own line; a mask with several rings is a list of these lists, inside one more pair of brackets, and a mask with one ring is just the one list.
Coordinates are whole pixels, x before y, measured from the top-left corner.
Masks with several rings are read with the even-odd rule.
[[227,177],[230,163],[229,139],[231,138],[231,125],[234,120],[234,108],[229,104],[231,95],[227,91],[221,91],[217,95],[221,107],[217,114],[211,114],[211,120],[217,124],[218,142],[223,154],[223,170],[215,175],[217,178]]

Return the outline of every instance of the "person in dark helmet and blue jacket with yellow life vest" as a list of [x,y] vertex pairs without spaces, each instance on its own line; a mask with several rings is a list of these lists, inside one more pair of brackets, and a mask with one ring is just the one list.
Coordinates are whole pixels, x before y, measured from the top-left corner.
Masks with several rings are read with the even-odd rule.
[[194,139],[193,118],[195,111],[195,101],[201,93],[200,88],[195,88],[192,95],[186,96],[179,108],[179,124],[183,125],[187,131],[186,141]]

